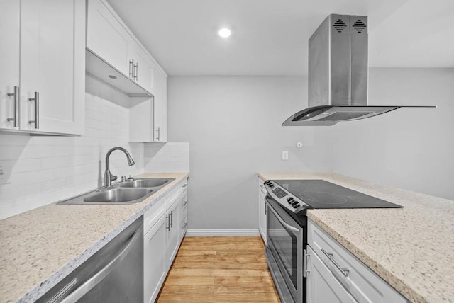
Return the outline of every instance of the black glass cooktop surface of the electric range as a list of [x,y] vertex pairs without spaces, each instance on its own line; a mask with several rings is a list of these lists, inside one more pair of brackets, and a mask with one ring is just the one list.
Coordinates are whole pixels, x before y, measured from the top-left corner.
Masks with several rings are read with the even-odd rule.
[[324,180],[274,180],[314,208],[398,208],[382,199]]

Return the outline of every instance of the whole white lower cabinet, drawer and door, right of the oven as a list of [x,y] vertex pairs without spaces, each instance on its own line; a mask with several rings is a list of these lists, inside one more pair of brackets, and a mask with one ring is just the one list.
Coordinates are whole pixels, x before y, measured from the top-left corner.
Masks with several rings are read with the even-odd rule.
[[307,303],[407,302],[326,231],[307,221]]

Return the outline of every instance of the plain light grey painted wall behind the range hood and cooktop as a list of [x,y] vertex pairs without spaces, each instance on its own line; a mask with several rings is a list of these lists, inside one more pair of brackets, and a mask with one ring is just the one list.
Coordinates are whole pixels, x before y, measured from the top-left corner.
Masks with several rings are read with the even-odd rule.
[[454,199],[453,69],[370,70],[371,105],[437,109],[281,127],[306,108],[306,84],[304,77],[168,79],[169,139],[191,144],[189,228],[257,227],[259,171],[334,171]]

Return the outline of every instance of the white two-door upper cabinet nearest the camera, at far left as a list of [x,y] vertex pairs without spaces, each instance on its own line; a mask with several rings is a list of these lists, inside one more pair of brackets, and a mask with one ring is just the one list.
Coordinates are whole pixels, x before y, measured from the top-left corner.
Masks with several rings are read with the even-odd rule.
[[0,7],[0,128],[83,134],[85,2],[0,1]]

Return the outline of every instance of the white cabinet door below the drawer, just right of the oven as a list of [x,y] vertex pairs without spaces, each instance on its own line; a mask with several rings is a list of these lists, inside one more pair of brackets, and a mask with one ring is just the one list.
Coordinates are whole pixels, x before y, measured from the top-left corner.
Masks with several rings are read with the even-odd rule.
[[307,303],[355,303],[356,300],[345,290],[319,256],[307,246],[306,292]]

